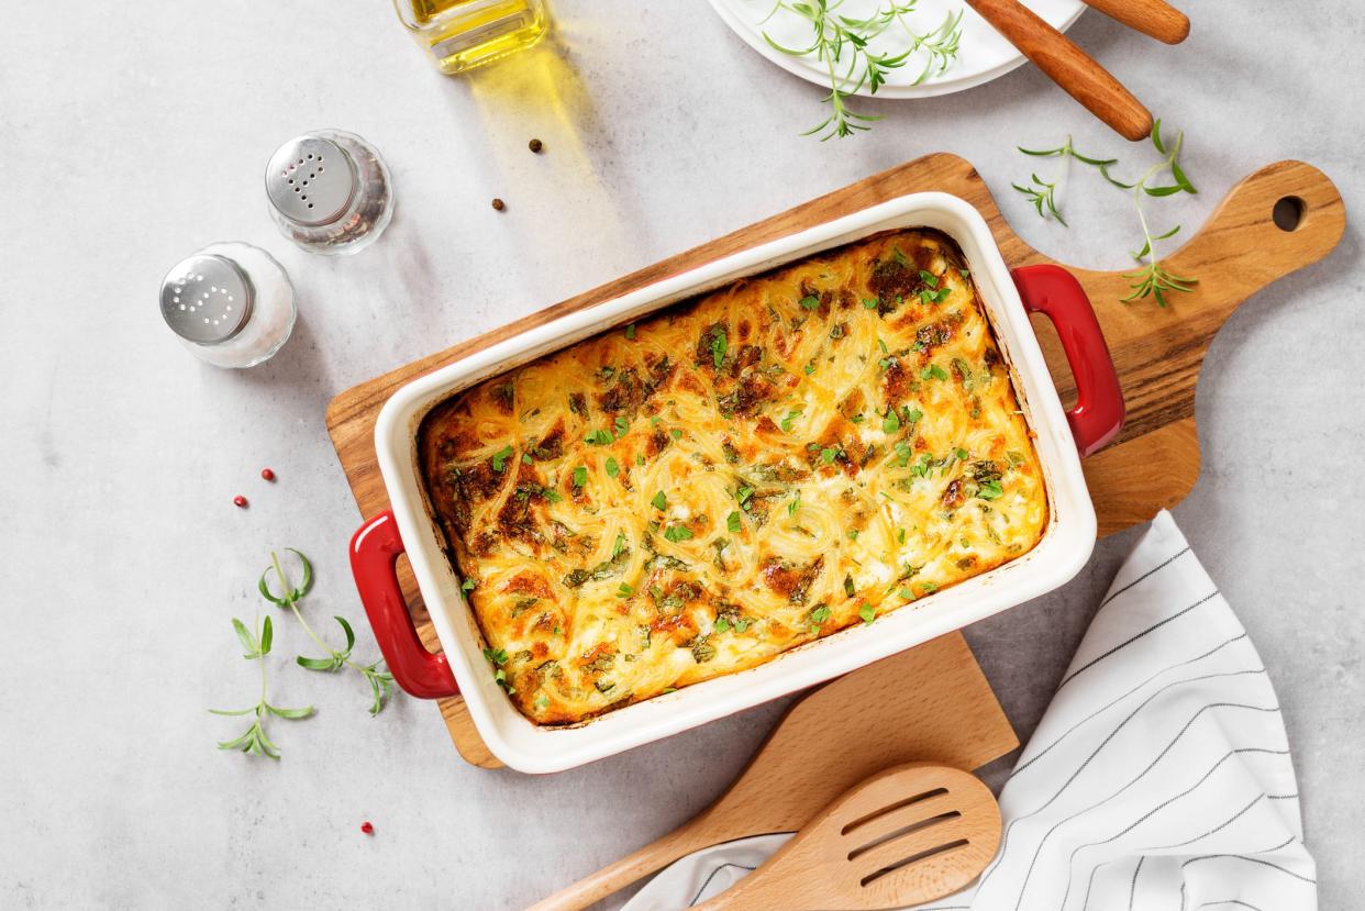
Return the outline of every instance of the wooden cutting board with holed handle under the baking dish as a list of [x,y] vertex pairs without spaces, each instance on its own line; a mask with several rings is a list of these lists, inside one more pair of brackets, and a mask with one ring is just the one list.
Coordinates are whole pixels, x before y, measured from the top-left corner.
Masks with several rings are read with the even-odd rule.
[[[347,389],[328,406],[326,419],[360,514],[370,518],[389,505],[375,464],[374,421],[385,400],[405,382],[565,313],[891,197],[924,190],[951,193],[976,206],[1011,268],[1052,262],[1010,229],[968,161],[940,153],[890,168]],[[1284,227],[1276,224],[1276,206]],[[1067,266],[1095,305],[1127,404],[1122,436],[1085,460],[1102,535],[1151,519],[1159,509],[1179,503],[1194,486],[1200,471],[1194,385],[1213,335],[1248,296],[1325,257],[1345,229],[1346,208],[1332,182],[1312,165],[1279,161],[1234,186],[1198,234],[1166,258],[1171,272],[1198,279],[1194,292],[1173,295],[1168,309],[1149,300],[1121,303],[1132,281],[1121,272]],[[1063,402],[1073,402],[1076,391],[1057,336],[1043,331],[1040,340]],[[400,561],[399,580],[422,641],[438,649],[405,560]],[[497,768],[500,763],[474,729],[464,701],[442,699],[440,705],[460,755],[475,765]]]

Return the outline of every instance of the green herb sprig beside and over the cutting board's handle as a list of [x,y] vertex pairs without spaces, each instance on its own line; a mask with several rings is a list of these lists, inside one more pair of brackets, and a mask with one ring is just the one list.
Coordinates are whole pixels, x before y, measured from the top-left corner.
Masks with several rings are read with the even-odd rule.
[[[1066,143],[1058,146],[1057,149],[1025,149],[1018,146],[1018,150],[1026,156],[1033,156],[1036,158],[1074,158],[1081,164],[1091,165],[1099,169],[1100,176],[1104,178],[1110,184],[1119,187],[1121,190],[1132,190],[1133,193],[1133,206],[1137,209],[1137,220],[1143,227],[1143,249],[1133,253],[1133,258],[1141,264],[1137,272],[1127,272],[1123,275],[1125,279],[1134,279],[1129,287],[1133,292],[1125,298],[1123,302],[1143,300],[1145,298],[1152,298],[1162,307],[1168,306],[1167,295],[1171,292],[1188,294],[1194,290],[1198,279],[1178,276],[1168,269],[1166,269],[1160,257],[1156,255],[1156,242],[1167,240],[1174,238],[1181,229],[1181,225],[1175,225],[1170,231],[1163,234],[1152,234],[1147,223],[1147,213],[1143,209],[1144,197],[1168,197],[1177,193],[1198,193],[1194,184],[1190,183],[1185,171],[1181,168],[1179,154],[1185,145],[1185,134],[1179,132],[1175,137],[1175,142],[1167,146],[1162,139],[1162,122],[1156,120],[1152,126],[1152,145],[1156,150],[1164,156],[1160,161],[1153,164],[1147,172],[1134,180],[1133,183],[1125,183],[1119,180],[1112,173],[1110,168],[1118,164],[1118,158],[1095,158],[1091,156],[1084,156],[1076,150],[1072,145],[1072,137],[1066,137]],[[1149,182],[1156,179],[1162,173],[1170,173],[1173,183],[1151,186]],[[1039,217],[1047,219],[1048,216],[1057,219],[1062,225],[1066,225],[1066,220],[1062,217],[1061,209],[1057,205],[1057,183],[1048,183],[1037,176],[1032,175],[1033,183],[1029,186],[1011,184],[1018,193],[1021,193],[1037,210]],[[1145,260],[1145,262],[1144,262]]]

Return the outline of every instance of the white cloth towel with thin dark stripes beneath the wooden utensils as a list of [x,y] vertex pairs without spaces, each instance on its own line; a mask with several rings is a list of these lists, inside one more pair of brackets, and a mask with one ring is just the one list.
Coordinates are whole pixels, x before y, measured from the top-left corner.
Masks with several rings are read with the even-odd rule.
[[[1110,586],[1001,811],[995,863],[920,908],[1317,908],[1275,690],[1168,512]],[[699,904],[789,837],[699,851],[622,911]]]

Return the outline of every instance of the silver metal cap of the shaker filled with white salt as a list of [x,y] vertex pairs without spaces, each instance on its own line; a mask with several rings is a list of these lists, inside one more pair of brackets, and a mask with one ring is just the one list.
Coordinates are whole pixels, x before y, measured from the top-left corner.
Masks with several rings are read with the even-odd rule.
[[161,317],[188,341],[227,341],[247,324],[255,291],[251,279],[227,257],[197,253],[161,280]]

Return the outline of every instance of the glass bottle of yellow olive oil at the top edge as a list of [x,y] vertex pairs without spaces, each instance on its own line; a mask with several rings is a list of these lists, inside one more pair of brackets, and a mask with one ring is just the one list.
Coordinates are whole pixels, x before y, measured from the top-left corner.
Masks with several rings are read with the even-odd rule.
[[550,26],[545,0],[393,0],[393,5],[446,75],[530,48]]

